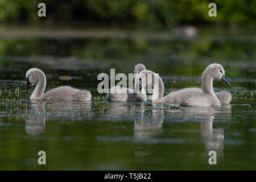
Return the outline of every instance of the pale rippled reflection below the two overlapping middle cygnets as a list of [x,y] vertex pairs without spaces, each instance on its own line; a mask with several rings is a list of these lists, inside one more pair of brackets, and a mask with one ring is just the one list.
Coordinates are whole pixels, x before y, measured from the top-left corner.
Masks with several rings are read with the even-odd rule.
[[[163,131],[164,120],[163,104],[152,103],[152,106],[143,102],[127,104],[125,102],[110,102],[107,117],[115,119],[134,118],[134,155],[138,162],[144,163],[144,156],[154,153],[144,147],[148,142],[153,142],[154,136]],[[157,140],[155,140],[157,142]],[[152,163],[163,163],[162,156],[152,157]]]

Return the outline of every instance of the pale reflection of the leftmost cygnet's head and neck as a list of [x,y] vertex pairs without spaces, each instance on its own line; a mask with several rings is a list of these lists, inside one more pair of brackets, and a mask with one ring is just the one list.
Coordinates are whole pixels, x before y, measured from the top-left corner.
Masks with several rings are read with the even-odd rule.
[[42,134],[46,128],[45,102],[30,102],[26,115],[26,133],[30,135]]

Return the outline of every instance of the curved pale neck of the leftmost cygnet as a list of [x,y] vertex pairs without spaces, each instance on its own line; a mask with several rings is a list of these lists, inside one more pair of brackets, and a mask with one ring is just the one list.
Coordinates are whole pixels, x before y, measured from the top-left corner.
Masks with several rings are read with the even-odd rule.
[[46,75],[44,75],[44,73],[39,70],[35,72],[36,72],[36,75],[38,75],[38,81],[37,81],[34,92],[30,96],[31,100],[40,99],[40,97],[42,97],[44,94],[44,89],[46,89]]

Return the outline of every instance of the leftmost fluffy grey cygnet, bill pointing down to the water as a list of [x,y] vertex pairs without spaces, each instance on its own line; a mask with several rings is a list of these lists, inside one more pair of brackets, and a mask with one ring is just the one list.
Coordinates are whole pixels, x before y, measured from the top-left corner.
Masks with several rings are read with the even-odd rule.
[[90,101],[92,94],[86,90],[79,90],[71,86],[60,86],[44,93],[46,89],[46,75],[38,68],[31,68],[26,73],[27,95],[32,91],[32,87],[36,85],[34,92],[30,96],[30,100],[42,101]]

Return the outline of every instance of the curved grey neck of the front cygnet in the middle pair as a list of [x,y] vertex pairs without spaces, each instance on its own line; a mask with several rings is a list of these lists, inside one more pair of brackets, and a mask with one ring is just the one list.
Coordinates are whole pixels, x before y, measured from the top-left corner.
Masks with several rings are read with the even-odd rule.
[[162,78],[159,77],[158,74],[154,73],[154,76],[152,77],[152,84],[154,85],[152,102],[158,102],[163,99],[163,94],[164,94],[163,80]]

